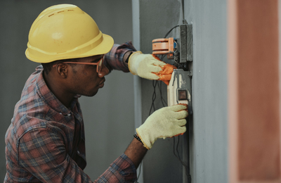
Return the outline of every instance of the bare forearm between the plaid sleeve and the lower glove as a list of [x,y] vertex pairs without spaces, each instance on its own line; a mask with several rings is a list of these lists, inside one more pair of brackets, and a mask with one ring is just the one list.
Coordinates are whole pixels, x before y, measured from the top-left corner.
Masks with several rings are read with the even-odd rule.
[[140,165],[141,160],[143,160],[143,157],[147,151],[148,149],[143,146],[141,141],[133,138],[133,141],[131,141],[131,144],[128,146],[124,154],[126,154],[126,156],[131,159],[135,167],[138,168],[138,165]]

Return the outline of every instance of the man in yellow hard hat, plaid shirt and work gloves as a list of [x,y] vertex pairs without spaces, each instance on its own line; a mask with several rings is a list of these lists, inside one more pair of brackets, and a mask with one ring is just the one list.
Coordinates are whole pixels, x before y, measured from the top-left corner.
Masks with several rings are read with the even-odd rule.
[[[171,68],[131,43],[113,44],[80,8],[46,8],[32,24],[26,56],[42,66],[30,75],[6,132],[4,182],[92,182],[86,167],[84,122],[78,98],[94,96],[110,70],[167,80]],[[103,65],[105,63],[105,65]],[[163,76],[164,75],[164,76]],[[171,78],[171,76],[170,76]],[[156,139],[185,132],[186,106],[155,111],[126,151],[96,182],[134,182],[136,168]]]

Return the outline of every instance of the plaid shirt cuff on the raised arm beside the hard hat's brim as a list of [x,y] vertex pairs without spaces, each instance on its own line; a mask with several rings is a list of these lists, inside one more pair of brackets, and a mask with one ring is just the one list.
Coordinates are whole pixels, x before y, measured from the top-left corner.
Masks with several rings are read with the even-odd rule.
[[129,72],[128,64],[123,62],[123,57],[128,51],[136,51],[131,42],[114,44],[110,52],[105,54],[105,66],[110,70]]

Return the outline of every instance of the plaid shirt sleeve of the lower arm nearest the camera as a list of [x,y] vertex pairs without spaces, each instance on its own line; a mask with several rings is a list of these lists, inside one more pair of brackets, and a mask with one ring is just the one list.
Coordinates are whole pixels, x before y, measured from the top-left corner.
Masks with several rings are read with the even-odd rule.
[[[41,182],[92,182],[67,154],[63,136],[48,127],[30,130],[20,138],[18,164]],[[122,154],[95,182],[135,180],[136,168]]]

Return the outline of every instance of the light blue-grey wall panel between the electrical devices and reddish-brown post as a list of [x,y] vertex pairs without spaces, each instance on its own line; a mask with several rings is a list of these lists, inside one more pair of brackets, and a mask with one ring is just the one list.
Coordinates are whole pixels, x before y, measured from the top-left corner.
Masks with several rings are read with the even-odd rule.
[[226,0],[192,0],[188,8],[194,27],[194,182],[228,182],[226,8]]

